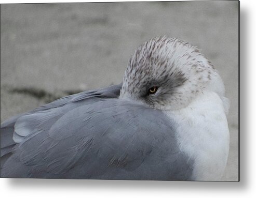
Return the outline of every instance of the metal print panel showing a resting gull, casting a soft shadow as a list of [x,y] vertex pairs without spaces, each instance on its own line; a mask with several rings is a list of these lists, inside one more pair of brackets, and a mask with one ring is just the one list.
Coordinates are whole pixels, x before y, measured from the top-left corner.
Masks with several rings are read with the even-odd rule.
[[1,5],[1,177],[237,181],[238,1]]

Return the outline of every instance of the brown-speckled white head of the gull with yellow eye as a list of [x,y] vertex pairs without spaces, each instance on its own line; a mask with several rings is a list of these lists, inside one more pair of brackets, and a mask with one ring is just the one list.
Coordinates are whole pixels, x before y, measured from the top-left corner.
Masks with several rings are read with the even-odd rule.
[[[157,92],[149,94],[153,86]],[[120,98],[178,110],[205,89],[224,95],[222,80],[209,60],[190,43],[162,36],[144,42],[130,57]]]

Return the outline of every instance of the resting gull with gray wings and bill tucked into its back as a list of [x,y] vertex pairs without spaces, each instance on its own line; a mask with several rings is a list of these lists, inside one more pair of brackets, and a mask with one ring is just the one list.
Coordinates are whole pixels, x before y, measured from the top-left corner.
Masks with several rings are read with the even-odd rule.
[[220,180],[229,102],[217,69],[180,38],[149,39],[123,82],[1,124],[1,177]]

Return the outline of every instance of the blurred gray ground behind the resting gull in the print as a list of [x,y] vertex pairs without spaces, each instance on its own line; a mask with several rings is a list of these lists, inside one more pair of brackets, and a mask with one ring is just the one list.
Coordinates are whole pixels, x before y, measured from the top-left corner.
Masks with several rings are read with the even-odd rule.
[[65,95],[122,82],[144,41],[197,45],[231,101],[222,180],[238,180],[238,1],[1,5],[1,123]]

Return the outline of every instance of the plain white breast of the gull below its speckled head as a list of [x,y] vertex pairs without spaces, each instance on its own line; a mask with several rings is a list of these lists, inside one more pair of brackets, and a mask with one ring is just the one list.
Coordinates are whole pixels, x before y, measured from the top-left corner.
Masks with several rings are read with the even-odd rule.
[[193,180],[220,180],[224,173],[230,142],[225,105],[218,94],[207,91],[186,108],[166,112],[178,123],[181,151],[195,160]]

